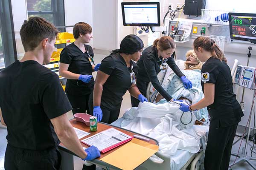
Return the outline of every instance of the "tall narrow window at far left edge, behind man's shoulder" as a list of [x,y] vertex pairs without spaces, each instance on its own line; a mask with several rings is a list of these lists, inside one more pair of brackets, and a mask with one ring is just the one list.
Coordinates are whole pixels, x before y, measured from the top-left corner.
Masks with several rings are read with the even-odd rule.
[[0,0],[0,71],[17,60],[10,0]]

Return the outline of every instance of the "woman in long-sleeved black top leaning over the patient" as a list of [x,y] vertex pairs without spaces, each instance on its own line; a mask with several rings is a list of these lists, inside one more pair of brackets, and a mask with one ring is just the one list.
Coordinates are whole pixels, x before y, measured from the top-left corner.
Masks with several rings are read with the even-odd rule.
[[[143,50],[142,57],[137,62],[138,74],[137,74],[137,87],[143,96],[146,96],[146,90],[148,83],[152,82],[154,88],[160,93],[167,101],[172,99],[160,85],[157,79],[157,74],[166,69],[166,63],[170,68],[180,77],[185,88],[192,88],[192,83],[186,79],[186,76],[180,71],[178,66],[172,57],[175,52],[175,42],[169,36],[163,36],[160,39],[154,41],[154,44]],[[139,100],[132,97],[132,107],[137,107]]]

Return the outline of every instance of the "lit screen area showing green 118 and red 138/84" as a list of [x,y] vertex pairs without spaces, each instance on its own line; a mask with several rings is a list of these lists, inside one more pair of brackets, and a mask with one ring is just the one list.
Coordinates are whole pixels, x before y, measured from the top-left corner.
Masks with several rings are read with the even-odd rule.
[[256,17],[231,15],[232,36],[256,40]]

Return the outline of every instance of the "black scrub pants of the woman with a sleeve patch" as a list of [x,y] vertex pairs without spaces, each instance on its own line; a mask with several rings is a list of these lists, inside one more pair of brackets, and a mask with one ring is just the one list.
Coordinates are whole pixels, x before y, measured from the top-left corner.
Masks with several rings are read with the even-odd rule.
[[218,121],[211,122],[209,126],[204,157],[205,170],[227,170],[229,167],[232,144],[238,123],[228,127],[219,127],[218,124]]

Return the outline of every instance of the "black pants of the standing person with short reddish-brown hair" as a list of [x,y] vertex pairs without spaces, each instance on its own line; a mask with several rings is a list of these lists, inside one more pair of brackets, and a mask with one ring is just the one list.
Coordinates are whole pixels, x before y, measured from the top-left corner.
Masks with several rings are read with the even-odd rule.
[[71,95],[67,93],[67,98],[70,101],[70,104],[72,105],[72,112],[73,114],[76,113],[87,113],[89,114],[89,96],[90,94],[84,95],[84,96],[76,96]]

